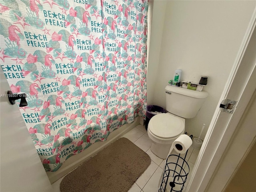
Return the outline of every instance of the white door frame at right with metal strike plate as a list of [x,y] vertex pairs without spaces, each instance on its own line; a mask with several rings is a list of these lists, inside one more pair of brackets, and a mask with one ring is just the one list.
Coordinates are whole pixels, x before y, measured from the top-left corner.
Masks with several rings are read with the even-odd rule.
[[[238,52],[234,66],[226,82],[226,86],[220,97],[219,106],[222,100],[229,99],[237,102],[233,113],[220,112],[219,106],[216,107],[214,116],[208,128],[208,132],[198,154],[191,179],[186,188],[187,192],[204,192],[214,186],[214,191],[223,191],[226,183],[234,174],[238,165],[246,154],[246,151],[256,137],[255,126],[246,127],[240,132],[245,133],[240,138],[244,147],[239,148],[239,155],[230,156],[232,166],[221,167],[224,155],[228,152],[230,144],[234,144],[232,137],[237,134],[236,128],[244,114],[246,106],[254,90],[256,89],[256,9],[244,36],[244,40]],[[221,70],[221,69],[220,69]],[[255,117],[255,116],[254,116]],[[236,131],[236,132],[235,132]],[[235,140],[238,142],[238,139]],[[218,176],[220,172],[224,173]],[[217,177],[216,177],[217,176]]]

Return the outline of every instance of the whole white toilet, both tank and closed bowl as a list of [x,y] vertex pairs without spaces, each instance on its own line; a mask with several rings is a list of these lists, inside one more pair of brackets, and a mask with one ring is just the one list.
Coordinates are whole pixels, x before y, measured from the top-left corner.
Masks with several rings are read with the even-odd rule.
[[208,97],[206,91],[170,85],[165,90],[168,113],[157,114],[148,123],[148,137],[152,141],[150,149],[162,159],[167,158],[172,142],[184,134],[185,119],[194,118]]

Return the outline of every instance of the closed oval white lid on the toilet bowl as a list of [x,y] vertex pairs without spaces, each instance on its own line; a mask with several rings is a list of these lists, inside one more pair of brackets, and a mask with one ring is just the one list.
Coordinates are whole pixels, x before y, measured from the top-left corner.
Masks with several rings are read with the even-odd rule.
[[160,138],[172,138],[183,132],[184,122],[179,117],[162,113],[150,119],[148,128],[150,128],[150,131],[155,136]]

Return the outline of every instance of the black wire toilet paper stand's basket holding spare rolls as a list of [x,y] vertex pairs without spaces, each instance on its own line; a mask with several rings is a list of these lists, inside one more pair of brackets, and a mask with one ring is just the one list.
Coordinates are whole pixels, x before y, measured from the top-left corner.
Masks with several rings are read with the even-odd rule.
[[[193,136],[190,135],[191,139],[192,137]],[[167,157],[162,182],[158,192],[182,192],[190,171],[188,162],[186,162],[187,153],[188,150],[184,158],[180,154],[171,154]]]

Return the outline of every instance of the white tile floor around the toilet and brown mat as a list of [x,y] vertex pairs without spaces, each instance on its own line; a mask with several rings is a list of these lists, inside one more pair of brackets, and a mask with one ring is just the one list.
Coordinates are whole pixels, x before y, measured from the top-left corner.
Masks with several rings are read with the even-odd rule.
[[[136,180],[132,188],[128,192],[158,192],[158,182],[164,168],[165,159],[161,159],[150,150],[151,141],[148,138],[145,126],[138,125],[130,132],[126,133],[123,137],[128,138],[136,146],[141,148],[144,152],[148,154],[151,158],[151,164],[147,170]],[[190,173],[188,174],[188,179],[196,162],[198,156],[198,149],[192,146],[188,150],[186,160],[188,160],[188,165],[190,167]],[[175,154],[175,152],[173,152]],[[184,156],[184,155],[183,155]],[[186,169],[186,168],[185,168]],[[60,192],[60,182],[62,178],[52,184],[54,192]],[[187,180],[188,181],[188,180]],[[185,187],[186,184],[185,183]]]

